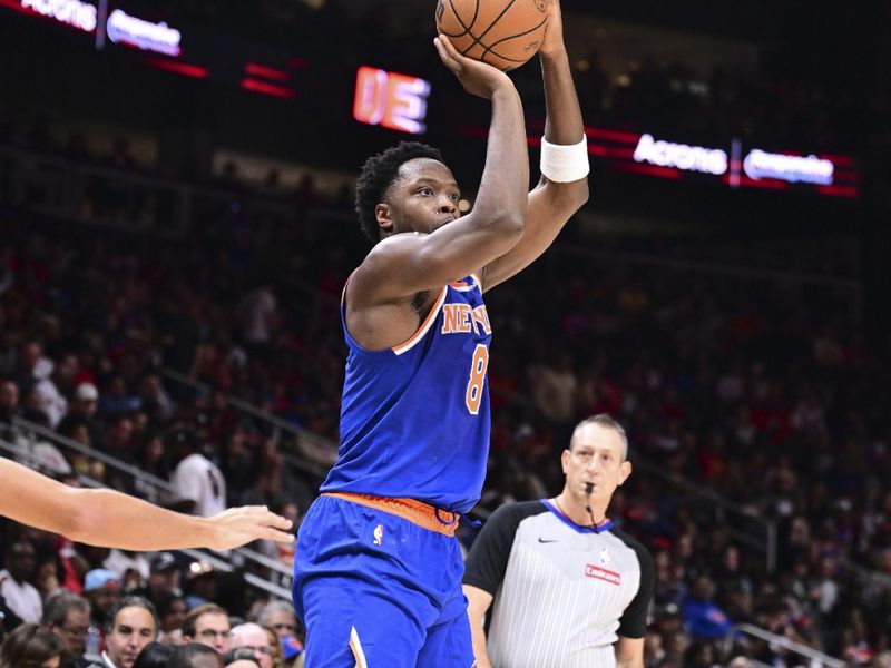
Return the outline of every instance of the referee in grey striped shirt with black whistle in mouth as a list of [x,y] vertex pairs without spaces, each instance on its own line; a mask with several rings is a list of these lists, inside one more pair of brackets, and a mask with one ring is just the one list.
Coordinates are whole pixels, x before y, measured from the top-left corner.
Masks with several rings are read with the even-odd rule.
[[621,425],[589,418],[560,456],[559,497],[492,513],[463,579],[479,668],[644,667],[653,560],[606,517],[627,458]]

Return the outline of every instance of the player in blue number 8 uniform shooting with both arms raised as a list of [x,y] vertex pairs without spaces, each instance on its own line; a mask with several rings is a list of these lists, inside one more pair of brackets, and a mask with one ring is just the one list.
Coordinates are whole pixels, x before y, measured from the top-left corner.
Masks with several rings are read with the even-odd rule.
[[588,196],[559,4],[548,11],[548,118],[531,193],[513,84],[442,36],[443,65],[492,106],[473,210],[460,216],[451,171],[421,144],[373,156],[360,175],[356,210],[375,245],[344,288],[340,452],[294,564],[307,668],[473,665],[454,531],[479,499],[489,450],[482,293],[541,255]]

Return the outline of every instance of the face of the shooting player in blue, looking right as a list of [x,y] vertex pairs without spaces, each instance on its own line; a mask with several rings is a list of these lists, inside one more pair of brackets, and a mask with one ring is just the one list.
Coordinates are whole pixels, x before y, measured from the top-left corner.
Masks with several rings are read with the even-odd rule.
[[[378,205],[378,220],[390,226],[390,234],[430,234],[461,215],[461,191],[451,170],[430,158],[415,158],[399,168],[388,204]],[[383,216],[383,222],[382,222]]]

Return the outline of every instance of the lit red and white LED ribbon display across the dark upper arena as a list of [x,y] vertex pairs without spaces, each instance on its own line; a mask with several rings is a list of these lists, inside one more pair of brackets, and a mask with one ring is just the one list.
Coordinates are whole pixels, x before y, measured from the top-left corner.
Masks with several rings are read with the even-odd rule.
[[[226,48],[221,48],[219,36],[212,31],[149,20],[128,10],[126,0],[0,0],[0,7],[89,35],[97,49],[125,48],[155,69],[195,79],[215,78],[246,91],[301,100],[295,79],[306,62],[300,58],[237,38],[227,38]],[[352,81],[347,70],[313,75],[342,77],[335,89],[346,91],[352,86],[352,118],[356,121],[412,135],[427,131],[428,80],[369,66],[353,71]],[[542,128],[539,122],[533,129]],[[488,129],[457,127],[454,131],[484,138]],[[616,171],[734,189],[851,199],[860,196],[858,161],[848,155],[768,147],[735,137],[703,144],[646,128],[586,127],[585,132],[590,155],[604,168]],[[540,132],[530,135],[528,141],[538,146]]]

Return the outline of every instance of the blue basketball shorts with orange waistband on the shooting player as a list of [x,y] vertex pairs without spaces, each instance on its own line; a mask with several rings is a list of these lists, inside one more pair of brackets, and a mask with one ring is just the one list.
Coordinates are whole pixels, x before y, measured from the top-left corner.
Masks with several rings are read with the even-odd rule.
[[306,668],[473,666],[461,549],[438,517],[411,500],[316,499],[292,584]]

